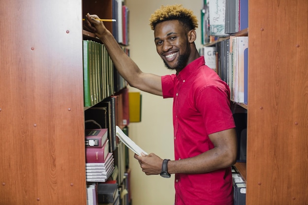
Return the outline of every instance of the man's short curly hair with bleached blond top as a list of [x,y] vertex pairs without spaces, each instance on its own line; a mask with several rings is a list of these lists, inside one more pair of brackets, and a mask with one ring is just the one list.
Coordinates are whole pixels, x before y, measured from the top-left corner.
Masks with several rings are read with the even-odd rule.
[[158,23],[170,20],[180,21],[187,30],[197,29],[198,20],[192,10],[186,9],[182,4],[162,5],[150,18],[151,29],[154,30]]

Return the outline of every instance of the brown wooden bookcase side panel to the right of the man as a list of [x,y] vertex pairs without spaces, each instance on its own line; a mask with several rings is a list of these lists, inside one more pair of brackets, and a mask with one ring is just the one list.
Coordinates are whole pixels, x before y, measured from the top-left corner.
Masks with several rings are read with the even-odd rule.
[[307,0],[249,0],[247,205],[308,204],[307,19]]

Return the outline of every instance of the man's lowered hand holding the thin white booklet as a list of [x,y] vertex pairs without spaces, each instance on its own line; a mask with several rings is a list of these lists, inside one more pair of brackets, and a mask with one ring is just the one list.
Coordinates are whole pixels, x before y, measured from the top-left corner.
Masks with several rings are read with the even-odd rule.
[[154,153],[142,156],[135,154],[134,158],[139,161],[142,172],[146,173],[146,175],[160,174],[163,160]]

